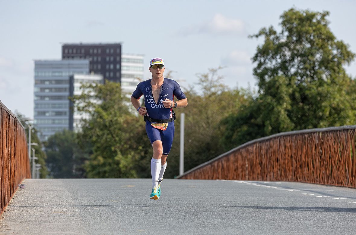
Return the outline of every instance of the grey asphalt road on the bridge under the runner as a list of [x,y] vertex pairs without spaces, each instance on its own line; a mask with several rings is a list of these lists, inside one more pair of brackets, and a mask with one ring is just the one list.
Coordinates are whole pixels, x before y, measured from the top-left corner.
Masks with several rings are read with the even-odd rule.
[[356,234],[356,189],[293,182],[26,179],[0,234]]

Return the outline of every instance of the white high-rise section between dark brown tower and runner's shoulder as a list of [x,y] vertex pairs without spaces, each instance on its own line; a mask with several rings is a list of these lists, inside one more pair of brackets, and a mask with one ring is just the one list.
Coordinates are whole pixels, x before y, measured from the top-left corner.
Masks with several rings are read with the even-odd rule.
[[[131,96],[139,82],[143,81],[143,55],[121,55],[121,90]],[[147,66],[148,69],[148,66]]]

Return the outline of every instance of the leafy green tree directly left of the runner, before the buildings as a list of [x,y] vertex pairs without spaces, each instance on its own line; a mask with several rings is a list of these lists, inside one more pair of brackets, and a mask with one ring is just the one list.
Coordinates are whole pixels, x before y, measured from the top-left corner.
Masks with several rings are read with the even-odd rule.
[[[133,114],[130,100],[121,92],[120,84],[105,81],[105,84],[82,85],[82,88],[85,92],[73,101],[78,111],[91,117],[82,120],[82,131],[78,134],[80,146],[90,146],[90,158],[84,165],[87,177],[147,175],[149,162],[141,162],[148,158],[147,145],[150,144],[142,141],[145,125]],[[138,174],[143,165],[144,172]]]

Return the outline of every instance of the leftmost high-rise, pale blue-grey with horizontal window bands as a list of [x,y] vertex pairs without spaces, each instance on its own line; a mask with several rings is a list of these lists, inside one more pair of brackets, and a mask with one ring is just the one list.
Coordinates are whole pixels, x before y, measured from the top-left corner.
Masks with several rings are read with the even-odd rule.
[[69,76],[88,74],[89,60],[35,60],[34,123],[40,140],[69,129]]

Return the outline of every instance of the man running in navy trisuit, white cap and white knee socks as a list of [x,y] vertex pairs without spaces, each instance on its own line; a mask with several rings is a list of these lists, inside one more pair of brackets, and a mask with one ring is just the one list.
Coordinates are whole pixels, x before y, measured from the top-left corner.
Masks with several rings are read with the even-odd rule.
[[[161,58],[150,61],[152,79],[138,83],[132,93],[131,103],[146,119],[146,132],[151,141],[153,156],[151,159],[152,193],[151,199],[161,196],[161,182],[167,167],[167,156],[171,151],[174,136],[172,108],[188,105],[185,94],[179,84],[163,77],[164,62]],[[144,95],[145,107],[140,106],[140,97]],[[178,101],[174,102],[174,96]],[[173,111],[174,113],[174,111]]]

